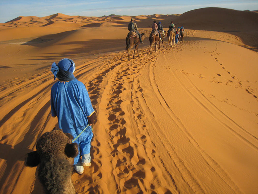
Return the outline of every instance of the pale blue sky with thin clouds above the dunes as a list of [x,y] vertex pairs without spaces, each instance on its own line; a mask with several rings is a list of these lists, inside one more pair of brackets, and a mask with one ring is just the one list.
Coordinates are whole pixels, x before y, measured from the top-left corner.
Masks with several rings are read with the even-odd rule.
[[44,17],[55,13],[69,16],[108,16],[110,14],[139,16],[179,14],[205,7],[253,11],[258,10],[258,0],[0,0],[0,23],[5,23],[18,16]]

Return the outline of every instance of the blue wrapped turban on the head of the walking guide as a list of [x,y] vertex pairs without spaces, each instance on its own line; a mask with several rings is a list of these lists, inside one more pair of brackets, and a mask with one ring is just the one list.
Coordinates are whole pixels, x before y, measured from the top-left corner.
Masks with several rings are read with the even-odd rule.
[[70,81],[76,79],[74,77],[75,63],[68,58],[64,58],[56,64],[52,63],[51,70],[54,74],[54,80],[58,78],[61,81]]

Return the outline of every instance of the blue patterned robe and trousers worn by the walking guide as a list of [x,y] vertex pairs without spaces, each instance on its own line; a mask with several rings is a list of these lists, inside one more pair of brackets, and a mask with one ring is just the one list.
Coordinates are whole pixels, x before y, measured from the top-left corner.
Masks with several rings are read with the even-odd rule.
[[[77,79],[69,82],[55,83],[51,88],[51,114],[57,116],[59,128],[65,133],[70,133],[74,139],[88,125],[87,117],[94,113],[91,100],[84,84]],[[80,156],[90,153],[93,133],[91,126],[74,141],[79,144],[78,156],[74,164],[80,160]]]

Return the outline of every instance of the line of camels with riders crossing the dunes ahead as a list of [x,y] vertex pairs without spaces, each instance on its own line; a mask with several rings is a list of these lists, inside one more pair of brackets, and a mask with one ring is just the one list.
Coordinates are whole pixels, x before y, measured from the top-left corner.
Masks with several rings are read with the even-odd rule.
[[[134,53],[133,53],[133,59],[135,56],[135,51],[137,51],[138,57],[139,57],[139,50],[138,46],[140,43],[143,43],[142,41],[146,38],[145,33],[138,32],[138,27],[136,23],[134,23],[134,19],[131,19],[131,22],[128,24],[128,30],[129,33],[126,36],[125,42],[126,42],[126,49],[128,54],[128,61],[130,61],[130,54],[129,51],[135,46]],[[157,21],[154,20],[152,24],[152,31],[149,35],[149,42],[150,42],[150,53],[152,54],[152,48],[155,44],[155,52],[158,52],[158,48],[160,49],[160,41],[162,42],[162,46],[164,48],[164,38],[165,38],[166,31],[163,30],[163,26],[161,22],[159,21],[157,24]],[[172,42],[174,42],[174,46],[178,42],[183,42],[184,38],[184,27],[181,28],[178,27],[175,29],[175,25],[173,21],[171,21],[169,25],[169,30],[167,31],[167,37],[168,37],[168,48],[169,46],[173,47]]]

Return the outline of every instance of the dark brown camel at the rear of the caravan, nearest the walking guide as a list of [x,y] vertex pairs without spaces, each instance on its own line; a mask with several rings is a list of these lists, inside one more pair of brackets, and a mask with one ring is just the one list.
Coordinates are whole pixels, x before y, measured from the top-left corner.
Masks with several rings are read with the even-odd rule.
[[[130,31],[128,33],[128,35],[126,36],[125,42],[126,42],[126,48],[125,50],[127,50],[127,54],[128,54],[128,61],[130,61],[130,55],[129,55],[129,50],[133,48],[133,46],[135,46],[134,49],[134,53],[133,53],[133,59],[134,59],[134,55],[135,55],[135,51],[137,50],[138,53],[138,57],[139,57],[139,50],[138,50],[138,46],[140,44],[140,39],[135,37],[135,32]],[[146,37],[145,33],[141,33],[141,38],[142,41],[144,40],[144,38]]]

